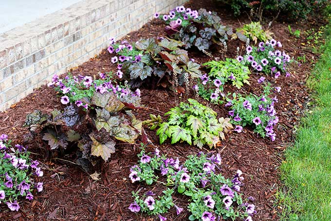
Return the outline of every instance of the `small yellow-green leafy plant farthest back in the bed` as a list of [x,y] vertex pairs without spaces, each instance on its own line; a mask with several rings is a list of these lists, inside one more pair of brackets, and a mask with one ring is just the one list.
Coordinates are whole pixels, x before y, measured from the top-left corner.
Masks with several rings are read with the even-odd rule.
[[244,24],[241,28],[237,28],[236,35],[244,42],[246,42],[247,38],[249,38],[256,44],[257,40],[265,42],[272,39],[273,33],[269,30],[264,31],[260,22],[252,21],[249,24]]

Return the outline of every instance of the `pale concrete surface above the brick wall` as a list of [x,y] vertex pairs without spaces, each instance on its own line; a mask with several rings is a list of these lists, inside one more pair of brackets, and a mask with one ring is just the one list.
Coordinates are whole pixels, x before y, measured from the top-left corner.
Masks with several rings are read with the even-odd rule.
[[81,0],[0,0],[0,34]]

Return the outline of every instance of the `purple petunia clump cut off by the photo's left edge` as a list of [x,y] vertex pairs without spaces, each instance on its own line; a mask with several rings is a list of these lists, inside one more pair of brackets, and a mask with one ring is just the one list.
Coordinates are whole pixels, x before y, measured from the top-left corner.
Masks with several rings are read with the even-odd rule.
[[37,181],[43,172],[39,162],[30,159],[27,147],[16,144],[5,134],[0,135],[0,201],[11,211],[18,211],[20,199],[32,201],[33,192],[41,192],[43,183]]

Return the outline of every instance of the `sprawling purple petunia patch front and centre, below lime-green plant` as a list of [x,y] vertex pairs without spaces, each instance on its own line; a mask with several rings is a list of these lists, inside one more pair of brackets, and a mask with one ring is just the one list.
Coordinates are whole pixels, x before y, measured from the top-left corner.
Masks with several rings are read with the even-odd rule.
[[[191,213],[188,218],[190,221],[252,221],[252,216],[256,213],[255,205],[243,202],[240,194],[242,172],[238,170],[232,180],[225,179],[220,173],[219,154],[207,156],[200,152],[198,155],[188,156],[181,163],[179,158],[160,155],[157,148],[153,153],[146,153],[143,148],[138,158],[139,163],[130,169],[130,180],[151,185],[161,176],[166,179],[163,182],[166,188],[162,194],[154,194],[152,191],[141,193],[141,190],[132,192],[134,202],[129,206],[132,212],[158,215],[161,221],[166,220],[163,214],[169,209],[175,209],[179,215],[183,208],[172,199],[177,190],[179,194],[189,197],[187,210]],[[254,200],[251,197],[249,199]]]

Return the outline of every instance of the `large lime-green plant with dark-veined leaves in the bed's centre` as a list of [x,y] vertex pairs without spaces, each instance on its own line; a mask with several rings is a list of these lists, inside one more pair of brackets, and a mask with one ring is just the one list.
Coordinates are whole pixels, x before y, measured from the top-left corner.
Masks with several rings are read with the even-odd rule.
[[152,128],[159,127],[156,135],[160,137],[160,143],[169,138],[171,144],[186,141],[200,148],[203,145],[208,145],[210,148],[217,146],[220,139],[225,139],[223,132],[226,133],[232,128],[228,122],[230,119],[217,119],[217,113],[211,108],[202,105],[197,100],[188,99],[187,101],[181,102],[165,113],[168,116],[166,122],[154,120]]

